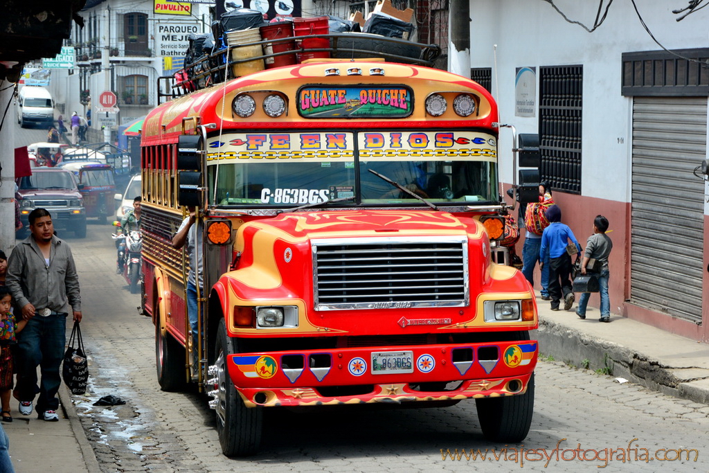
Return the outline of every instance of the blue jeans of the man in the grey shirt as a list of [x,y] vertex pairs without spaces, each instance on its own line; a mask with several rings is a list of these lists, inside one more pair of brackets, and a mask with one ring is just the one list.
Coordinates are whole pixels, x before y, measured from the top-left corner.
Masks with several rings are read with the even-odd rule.
[[[67,316],[34,316],[17,334],[17,391],[20,401],[33,401],[37,393],[37,412],[59,408],[57,391],[62,384],[60,366],[67,341]],[[37,386],[37,367],[40,385]]]

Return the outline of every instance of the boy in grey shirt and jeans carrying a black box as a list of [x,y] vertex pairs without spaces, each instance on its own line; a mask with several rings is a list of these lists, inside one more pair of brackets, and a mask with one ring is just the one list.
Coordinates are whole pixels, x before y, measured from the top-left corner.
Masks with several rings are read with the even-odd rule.
[[[581,261],[581,274],[588,272],[588,261],[591,258],[595,259],[600,266],[598,269],[598,293],[601,294],[601,318],[598,321],[610,322],[610,299],[608,299],[608,255],[610,250],[613,250],[613,242],[610,237],[605,234],[608,230],[608,218],[602,215],[596,216],[593,220],[593,235],[588,237],[586,241],[586,252],[584,252],[584,260]],[[590,292],[584,292],[579,298],[579,306],[576,307],[576,315],[579,318],[586,318],[586,306],[588,299],[591,298]]]

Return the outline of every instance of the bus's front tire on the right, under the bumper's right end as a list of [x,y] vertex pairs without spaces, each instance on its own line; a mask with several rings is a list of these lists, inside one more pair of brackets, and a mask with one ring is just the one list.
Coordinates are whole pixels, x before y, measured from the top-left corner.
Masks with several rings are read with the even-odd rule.
[[532,425],[534,389],[532,373],[525,394],[475,400],[480,428],[486,440],[498,443],[525,440]]

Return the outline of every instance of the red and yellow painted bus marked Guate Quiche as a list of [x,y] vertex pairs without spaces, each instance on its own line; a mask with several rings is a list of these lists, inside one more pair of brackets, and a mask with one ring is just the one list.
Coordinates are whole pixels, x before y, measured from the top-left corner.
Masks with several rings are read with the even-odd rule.
[[[497,120],[470,79],[367,59],[254,72],[147,116],[157,376],[206,392],[225,455],[255,452],[263,409],[282,406],[475,399],[486,438],[525,438],[537,306],[491,260],[508,210]],[[171,245],[185,206],[203,235],[194,342]]]

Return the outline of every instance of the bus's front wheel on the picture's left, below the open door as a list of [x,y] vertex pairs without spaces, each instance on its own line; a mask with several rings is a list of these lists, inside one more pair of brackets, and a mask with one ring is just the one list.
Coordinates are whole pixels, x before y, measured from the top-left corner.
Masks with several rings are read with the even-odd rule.
[[231,381],[227,356],[236,352],[236,341],[228,337],[224,319],[219,322],[214,360],[217,368],[217,433],[227,457],[254,455],[261,444],[262,408],[247,408]]

